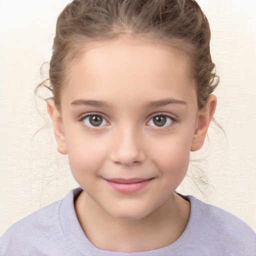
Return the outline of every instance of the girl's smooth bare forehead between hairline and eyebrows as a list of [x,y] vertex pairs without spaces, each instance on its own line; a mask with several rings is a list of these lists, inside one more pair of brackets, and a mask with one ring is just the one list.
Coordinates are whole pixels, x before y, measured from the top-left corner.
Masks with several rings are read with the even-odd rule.
[[61,92],[61,102],[80,97],[110,103],[116,98],[157,100],[166,93],[187,100],[195,95],[193,84],[185,54],[146,40],[114,39],[84,46]]

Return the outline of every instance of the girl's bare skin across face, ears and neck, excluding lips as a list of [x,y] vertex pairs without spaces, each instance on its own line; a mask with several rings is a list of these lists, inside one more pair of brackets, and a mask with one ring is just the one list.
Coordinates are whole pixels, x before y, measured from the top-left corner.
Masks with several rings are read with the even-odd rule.
[[[190,213],[174,191],[190,151],[203,144],[216,97],[198,110],[188,57],[140,39],[86,45],[70,70],[60,106],[48,99],[47,109],[58,151],[68,154],[83,189],[75,211],[86,236],[99,248],[124,252],[174,242]],[[104,119],[93,126],[86,114]],[[154,116],[166,123],[157,126]],[[114,189],[112,178],[149,181],[127,193]]]

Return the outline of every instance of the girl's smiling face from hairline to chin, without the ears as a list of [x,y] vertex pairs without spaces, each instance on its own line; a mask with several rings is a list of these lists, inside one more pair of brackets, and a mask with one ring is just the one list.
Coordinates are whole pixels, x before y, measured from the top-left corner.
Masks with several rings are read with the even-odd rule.
[[92,44],[60,99],[59,151],[101,208],[141,218],[173,197],[197,149],[200,112],[185,56],[135,39]]

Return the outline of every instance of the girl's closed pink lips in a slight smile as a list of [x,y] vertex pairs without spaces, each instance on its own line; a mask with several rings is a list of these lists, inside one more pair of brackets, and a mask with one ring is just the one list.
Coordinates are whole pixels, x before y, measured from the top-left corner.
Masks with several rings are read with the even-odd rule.
[[145,186],[147,186],[153,178],[111,178],[105,181],[117,192],[131,194],[136,193]]

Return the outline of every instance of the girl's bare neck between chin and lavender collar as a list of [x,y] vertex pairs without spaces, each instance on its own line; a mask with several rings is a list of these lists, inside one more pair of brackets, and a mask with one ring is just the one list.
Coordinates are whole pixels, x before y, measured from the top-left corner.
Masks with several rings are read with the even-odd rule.
[[139,219],[109,215],[82,192],[75,211],[87,238],[98,248],[133,252],[166,246],[182,234],[189,219],[189,202],[173,194],[161,206]]

